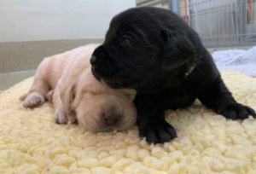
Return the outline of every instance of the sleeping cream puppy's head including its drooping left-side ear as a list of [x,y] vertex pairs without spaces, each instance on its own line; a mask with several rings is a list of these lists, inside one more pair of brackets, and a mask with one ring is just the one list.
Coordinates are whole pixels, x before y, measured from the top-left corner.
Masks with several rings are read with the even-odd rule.
[[65,112],[76,113],[79,125],[90,131],[121,131],[135,125],[136,90],[112,90],[99,84],[82,89],[71,85],[63,99]]

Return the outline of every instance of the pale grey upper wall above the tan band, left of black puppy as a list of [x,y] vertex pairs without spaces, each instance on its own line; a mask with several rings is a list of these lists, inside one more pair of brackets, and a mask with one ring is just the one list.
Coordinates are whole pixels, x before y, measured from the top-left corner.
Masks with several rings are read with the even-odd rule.
[[0,0],[0,42],[103,38],[135,0]]

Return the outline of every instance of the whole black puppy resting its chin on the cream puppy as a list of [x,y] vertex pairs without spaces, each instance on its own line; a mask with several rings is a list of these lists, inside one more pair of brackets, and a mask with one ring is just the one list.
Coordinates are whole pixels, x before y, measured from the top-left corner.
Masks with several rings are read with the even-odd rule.
[[227,119],[256,115],[235,101],[197,33],[166,9],[143,7],[116,15],[90,62],[98,80],[137,90],[137,124],[147,142],[176,137],[164,111],[188,107],[195,98]]

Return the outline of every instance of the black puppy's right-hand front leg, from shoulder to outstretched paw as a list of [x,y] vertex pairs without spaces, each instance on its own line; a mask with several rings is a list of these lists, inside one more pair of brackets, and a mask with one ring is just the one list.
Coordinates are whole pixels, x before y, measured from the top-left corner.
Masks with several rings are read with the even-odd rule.
[[216,113],[224,115],[227,119],[247,119],[249,115],[256,117],[251,107],[236,102],[207,50],[202,50],[201,64],[189,78],[193,79],[199,100]]

